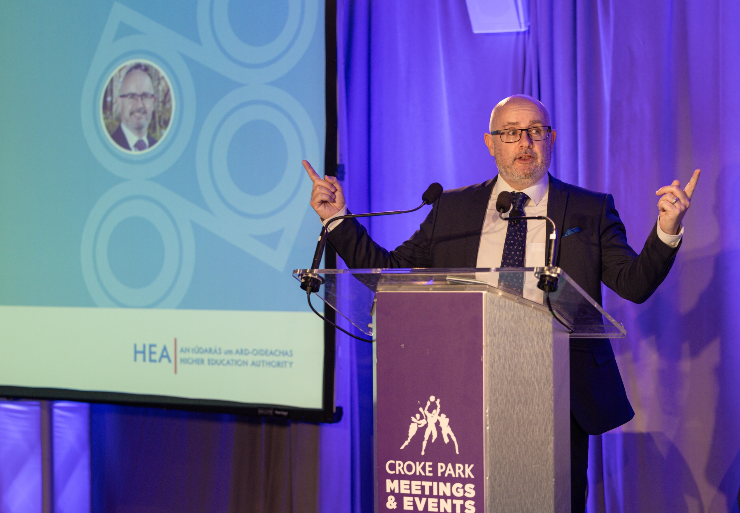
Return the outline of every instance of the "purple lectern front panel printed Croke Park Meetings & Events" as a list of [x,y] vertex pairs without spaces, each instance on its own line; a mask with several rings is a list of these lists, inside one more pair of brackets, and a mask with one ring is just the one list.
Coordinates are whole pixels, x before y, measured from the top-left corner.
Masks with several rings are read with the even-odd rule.
[[482,292],[379,292],[378,511],[485,512]]

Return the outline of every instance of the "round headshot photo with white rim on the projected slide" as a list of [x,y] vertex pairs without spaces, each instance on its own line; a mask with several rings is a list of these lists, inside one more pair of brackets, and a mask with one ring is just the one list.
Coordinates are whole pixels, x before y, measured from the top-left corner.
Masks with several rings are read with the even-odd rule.
[[160,67],[144,59],[112,72],[101,99],[101,123],[112,146],[140,154],[161,143],[175,114],[170,84]]

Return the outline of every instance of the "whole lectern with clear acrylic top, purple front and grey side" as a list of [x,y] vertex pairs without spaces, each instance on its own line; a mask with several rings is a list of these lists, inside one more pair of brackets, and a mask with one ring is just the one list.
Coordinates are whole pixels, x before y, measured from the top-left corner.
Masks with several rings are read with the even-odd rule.
[[565,274],[556,320],[539,271],[295,271],[374,340],[378,511],[571,511],[568,339],[625,329]]

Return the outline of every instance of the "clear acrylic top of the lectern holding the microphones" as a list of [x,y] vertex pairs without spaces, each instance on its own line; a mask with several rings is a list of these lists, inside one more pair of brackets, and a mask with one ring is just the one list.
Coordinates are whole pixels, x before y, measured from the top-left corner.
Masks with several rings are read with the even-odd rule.
[[[370,334],[374,295],[380,291],[485,291],[551,315],[545,293],[537,288],[542,268],[396,268],[296,269],[320,276],[317,294],[340,316]],[[560,271],[557,291],[550,293],[554,313],[572,330],[571,338],[621,339],[627,332],[588,296],[570,276]]]

